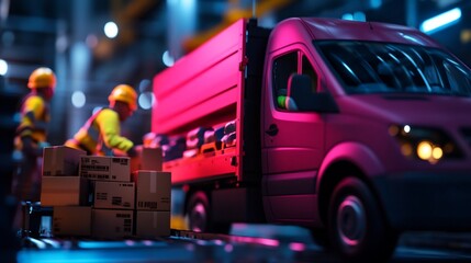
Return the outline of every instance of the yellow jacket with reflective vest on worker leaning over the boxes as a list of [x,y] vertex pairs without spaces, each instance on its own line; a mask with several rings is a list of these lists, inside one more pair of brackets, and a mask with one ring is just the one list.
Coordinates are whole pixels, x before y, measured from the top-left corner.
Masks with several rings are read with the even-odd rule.
[[134,144],[121,134],[119,114],[102,108],[93,114],[66,146],[87,151],[88,155],[113,156],[113,149],[126,152]]

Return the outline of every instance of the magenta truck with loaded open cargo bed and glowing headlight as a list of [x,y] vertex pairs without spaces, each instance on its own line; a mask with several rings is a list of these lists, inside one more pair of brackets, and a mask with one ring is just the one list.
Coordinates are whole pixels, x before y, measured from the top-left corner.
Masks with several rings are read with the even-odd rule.
[[338,215],[365,202],[359,220],[383,230],[471,230],[470,69],[416,30],[240,20],[158,73],[154,93],[154,133],[235,124],[235,140],[165,162],[190,225],[197,199],[208,229],[268,221],[348,240]]

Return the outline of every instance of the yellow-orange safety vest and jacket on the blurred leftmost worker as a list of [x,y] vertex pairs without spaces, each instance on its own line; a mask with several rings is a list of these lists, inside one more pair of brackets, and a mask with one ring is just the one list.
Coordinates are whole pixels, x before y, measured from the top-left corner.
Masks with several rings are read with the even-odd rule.
[[49,121],[48,103],[41,95],[26,95],[21,106],[21,121],[14,139],[15,149],[22,149],[22,137],[30,136],[36,145],[46,141]]

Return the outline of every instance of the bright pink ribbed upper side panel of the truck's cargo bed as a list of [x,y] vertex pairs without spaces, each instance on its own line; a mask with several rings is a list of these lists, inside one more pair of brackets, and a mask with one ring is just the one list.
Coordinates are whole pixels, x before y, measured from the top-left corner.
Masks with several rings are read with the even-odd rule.
[[[189,123],[237,104],[243,88],[243,72],[238,67],[244,58],[244,28],[245,23],[237,22],[155,77],[158,106],[153,108],[153,132],[184,132]],[[236,118],[235,111],[231,114],[216,122]]]

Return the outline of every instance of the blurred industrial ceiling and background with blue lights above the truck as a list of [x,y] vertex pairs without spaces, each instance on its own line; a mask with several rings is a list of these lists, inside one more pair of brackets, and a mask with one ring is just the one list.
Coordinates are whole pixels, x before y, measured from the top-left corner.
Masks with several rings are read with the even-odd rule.
[[[123,126],[135,142],[150,129],[153,77],[239,18],[273,26],[291,16],[344,18],[419,27],[466,0],[0,0],[0,67],[7,90],[25,94],[32,70],[58,79],[51,142],[63,144],[108,105],[115,84],[138,90],[141,107]],[[115,37],[103,31],[108,22]],[[471,65],[471,21],[462,15],[430,36]],[[1,70],[0,70],[1,73]]]

